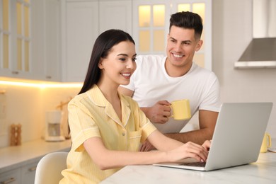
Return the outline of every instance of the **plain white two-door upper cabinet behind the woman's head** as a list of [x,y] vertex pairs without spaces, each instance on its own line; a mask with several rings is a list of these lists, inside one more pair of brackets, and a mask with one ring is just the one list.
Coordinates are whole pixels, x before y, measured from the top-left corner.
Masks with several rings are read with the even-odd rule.
[[62,79],[83,82],[94,42],[115,28],[131,34],[132,1],[62,1]]

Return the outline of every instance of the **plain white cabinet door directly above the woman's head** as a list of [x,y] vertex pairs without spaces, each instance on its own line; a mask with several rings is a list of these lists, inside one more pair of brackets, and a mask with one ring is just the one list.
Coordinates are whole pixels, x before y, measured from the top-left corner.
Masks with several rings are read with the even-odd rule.
[[102,0],[100,6],[100,33],[108,29],[125,30],[132,35],[132,1]]

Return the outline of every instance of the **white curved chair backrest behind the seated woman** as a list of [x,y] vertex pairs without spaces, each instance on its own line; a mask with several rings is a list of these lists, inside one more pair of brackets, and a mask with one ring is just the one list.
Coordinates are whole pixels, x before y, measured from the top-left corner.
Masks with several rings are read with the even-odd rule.
[[68,152],[52,152],[40,159],[35,171],[35,184],[55,184],[62,179],[62,170],[67,168]]

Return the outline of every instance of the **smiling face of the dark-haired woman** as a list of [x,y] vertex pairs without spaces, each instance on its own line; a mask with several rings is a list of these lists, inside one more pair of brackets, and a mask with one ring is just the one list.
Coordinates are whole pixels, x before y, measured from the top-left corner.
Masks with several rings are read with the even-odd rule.
[[127,85],[130,76],[136,69],[135,45],[123,41],[114,45],[106,58],[101,58],[98,67],[101,69],[101,80],[116,85]]

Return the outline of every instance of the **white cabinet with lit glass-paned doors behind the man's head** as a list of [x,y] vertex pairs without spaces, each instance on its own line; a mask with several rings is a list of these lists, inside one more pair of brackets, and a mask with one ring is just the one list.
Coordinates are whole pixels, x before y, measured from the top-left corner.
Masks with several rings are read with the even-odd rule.
[[203,21],[200,51],[194,62],[212,69],[212,1],[208,0],[133,0],[133,38],[138,54],[166,54],[171,14],[180,11],[198,13]]

